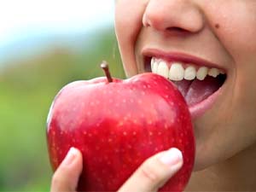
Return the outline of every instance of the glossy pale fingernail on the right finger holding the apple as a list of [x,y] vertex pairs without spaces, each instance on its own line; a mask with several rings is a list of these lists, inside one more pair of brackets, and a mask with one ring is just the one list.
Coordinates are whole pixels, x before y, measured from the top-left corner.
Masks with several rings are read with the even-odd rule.
[[175,166],[181,163],[182,160],[183,154],[177,148],[171,148],[160,156],[160,161],[167,166]]

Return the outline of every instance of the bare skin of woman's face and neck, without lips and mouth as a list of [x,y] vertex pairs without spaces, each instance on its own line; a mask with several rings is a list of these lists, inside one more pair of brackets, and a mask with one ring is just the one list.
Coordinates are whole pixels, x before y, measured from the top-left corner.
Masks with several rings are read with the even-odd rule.
[[148,47],[224,69],[222,95],[193,119],[195,173],[188,190],[256,190],[256,1],[119,0],[115,29],[128,77],[145,72]]

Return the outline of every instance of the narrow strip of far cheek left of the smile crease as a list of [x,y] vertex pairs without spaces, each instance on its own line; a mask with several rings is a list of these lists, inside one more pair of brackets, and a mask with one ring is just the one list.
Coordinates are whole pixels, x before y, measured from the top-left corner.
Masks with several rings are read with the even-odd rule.
[[115,7],[115,31],[126,75],[137,74],[134,46],[142,27],[148,0],[119,0]]

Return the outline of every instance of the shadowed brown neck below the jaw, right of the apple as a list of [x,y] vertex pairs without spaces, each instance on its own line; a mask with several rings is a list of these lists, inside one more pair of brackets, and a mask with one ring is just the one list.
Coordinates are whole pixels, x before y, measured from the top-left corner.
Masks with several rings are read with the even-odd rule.
[[229,160],[194,172],[186,191],[256,191],[256,143]]

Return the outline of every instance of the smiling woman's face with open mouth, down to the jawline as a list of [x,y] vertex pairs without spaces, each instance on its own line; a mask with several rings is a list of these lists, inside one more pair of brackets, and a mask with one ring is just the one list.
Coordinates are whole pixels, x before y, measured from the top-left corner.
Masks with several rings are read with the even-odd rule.
[[[150,71],[153,60],[154,73],[183,91],[196,170],[256,141],[255,0],[119,0],[115,27],[127,76]],[[211,68],[224,75],[205,77]]]

